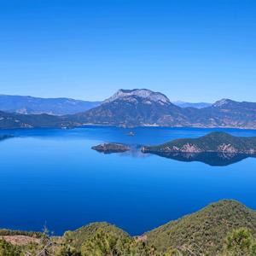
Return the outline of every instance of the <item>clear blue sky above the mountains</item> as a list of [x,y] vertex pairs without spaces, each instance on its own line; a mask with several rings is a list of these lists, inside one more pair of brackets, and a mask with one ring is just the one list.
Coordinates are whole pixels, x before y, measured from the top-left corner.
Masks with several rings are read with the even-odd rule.
[[0,93],[256,102],[255,0],[0,0]]

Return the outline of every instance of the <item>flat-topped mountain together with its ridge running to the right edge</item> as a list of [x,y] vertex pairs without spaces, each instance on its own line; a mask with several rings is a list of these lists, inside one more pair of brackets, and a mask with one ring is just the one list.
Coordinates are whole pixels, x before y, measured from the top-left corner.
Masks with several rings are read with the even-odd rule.
[[180,108],[160,92],[119,90],[102,105],[69,117],[81,124],[256,128],[256,103],[224,99],[207,108]]

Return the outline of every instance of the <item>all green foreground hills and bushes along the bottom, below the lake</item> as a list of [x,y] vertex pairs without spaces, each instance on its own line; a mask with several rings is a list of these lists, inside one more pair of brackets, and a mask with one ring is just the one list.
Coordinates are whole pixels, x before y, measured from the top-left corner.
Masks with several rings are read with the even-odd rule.
[[[23,240],[17,242],[20,236]],[[0,230],[0,256],[254,256],[255,238],[256,212],[237,201],[219,201],[136,237],[108,223],[89,224],[61,237],[48,236],[47,230]]]

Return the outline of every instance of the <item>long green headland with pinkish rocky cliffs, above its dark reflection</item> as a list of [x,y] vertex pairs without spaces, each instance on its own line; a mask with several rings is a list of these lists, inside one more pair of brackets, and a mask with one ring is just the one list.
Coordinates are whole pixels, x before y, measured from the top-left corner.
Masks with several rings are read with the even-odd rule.
[[177,139],[157,146],[144,146],[143,153],[223,153],[256,154],[256,137],[234,137],[225,132],[212,132],[204,137]]

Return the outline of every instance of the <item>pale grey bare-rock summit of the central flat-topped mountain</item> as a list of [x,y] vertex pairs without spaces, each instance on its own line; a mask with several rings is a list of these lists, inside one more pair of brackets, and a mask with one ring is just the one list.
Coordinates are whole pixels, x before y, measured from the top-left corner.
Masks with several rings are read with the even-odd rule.
[[129,100],[131,97],[140,97],[151,102],[161,102],[170,104],[170,100],[160,92],[154,92],[148,89],[118,90],[113,96],[108,98],[104,103],[113,102],[115,100]]

